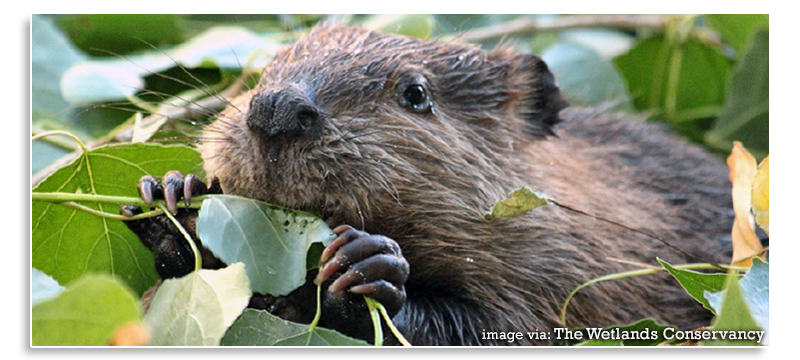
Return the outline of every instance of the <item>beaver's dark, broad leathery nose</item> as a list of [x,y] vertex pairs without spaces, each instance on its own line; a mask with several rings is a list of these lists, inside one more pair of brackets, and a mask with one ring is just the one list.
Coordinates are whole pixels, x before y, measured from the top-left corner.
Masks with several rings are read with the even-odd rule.
[[288,87],[250,99],[247,126],[266,137],[319,132],[320,111],[301,90]]

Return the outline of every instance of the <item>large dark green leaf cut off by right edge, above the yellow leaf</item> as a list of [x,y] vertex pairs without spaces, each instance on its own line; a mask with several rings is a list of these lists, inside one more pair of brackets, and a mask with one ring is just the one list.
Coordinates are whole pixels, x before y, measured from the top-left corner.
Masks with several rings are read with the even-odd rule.
[[759,31],[736,66],[728,95],[706,141],[729,151],[741,141],[759,158],[769,153],[769,30]]

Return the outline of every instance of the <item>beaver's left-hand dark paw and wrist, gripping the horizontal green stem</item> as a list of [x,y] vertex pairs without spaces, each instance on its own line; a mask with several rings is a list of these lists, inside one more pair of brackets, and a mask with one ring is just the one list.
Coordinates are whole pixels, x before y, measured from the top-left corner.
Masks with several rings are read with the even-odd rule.
[[[167,209],[189,233],[200,249],[203,268],[218,269],[225,264],[202,247],[195,234],[197,210],[178,209],[178,201],[184,200],[188,205],[193,196],[214,192],[205,183],[192,174],[184,176],[179,171],[170,171],[159,181],[151,175],[143,176],[138,184],[139,196],[152,205],[156,199],[163,199]],[[138,206],[126,205],[120,210],[124,216],[141,214]],[[191,246],[175,224],[164,215],[139,220],[125,221],[125,225],[133,231],[139,240],[153,252],[156,272],[162,279],[184,276],[194,270],[194,254]]]

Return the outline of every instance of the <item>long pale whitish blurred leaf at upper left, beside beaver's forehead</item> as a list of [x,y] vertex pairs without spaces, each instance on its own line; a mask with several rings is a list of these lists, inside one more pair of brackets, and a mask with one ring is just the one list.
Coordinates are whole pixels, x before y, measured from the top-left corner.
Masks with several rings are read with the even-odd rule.
[[[69,69],[61,91],[73,104],[123,100],[135,94],[144,77],[181,65],[186,68],[219,67],[261,69],[279,44],[238,27],[215,27],[167,50],[153,50],[123,59],[92,60]],[[203,84],[194,85],[205,88]],[[208,90],[213,93],[214,90]]]

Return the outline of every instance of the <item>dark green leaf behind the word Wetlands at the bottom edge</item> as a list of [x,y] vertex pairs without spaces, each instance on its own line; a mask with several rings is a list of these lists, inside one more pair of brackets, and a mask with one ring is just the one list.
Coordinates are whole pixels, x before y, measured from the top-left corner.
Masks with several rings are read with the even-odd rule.
[[[667,341],[664,329],[668,328],[675,327],[659,324],[652,319],[644,319],[628,325],[572,331],[583,333],[584,341],[575,346],[656,346]],[[574,340],[562,341],[560,345],[569,345],[571,342]]]

